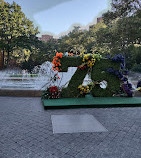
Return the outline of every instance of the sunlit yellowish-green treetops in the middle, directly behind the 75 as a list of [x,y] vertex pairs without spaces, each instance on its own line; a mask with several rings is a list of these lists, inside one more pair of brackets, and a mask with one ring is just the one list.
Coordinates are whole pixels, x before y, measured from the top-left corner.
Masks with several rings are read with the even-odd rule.
[[105,53],[105,48],[98,47],[95,38],[96,32],[105,27],[106,25],[103,22],[93,25],[88,31],[81,30],[80,27],[74,27],[68,35],[59,39],[58,51],[71,52],[77,55],[86,54],[87,52]]

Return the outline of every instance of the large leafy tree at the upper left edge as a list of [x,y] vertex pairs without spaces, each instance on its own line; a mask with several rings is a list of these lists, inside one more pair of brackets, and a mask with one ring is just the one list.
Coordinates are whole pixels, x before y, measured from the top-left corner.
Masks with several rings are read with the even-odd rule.
[[[34,28],[32,21],[27,19],[21,11],[21,7],[13,2],[6,3],[0,0],[0,49],[7,53],[7,65],[13,50],[18,48],[30,47],[32,39],[36,39],[35,35],[38,29]],[[36,39],[37,40],[37,39]]]

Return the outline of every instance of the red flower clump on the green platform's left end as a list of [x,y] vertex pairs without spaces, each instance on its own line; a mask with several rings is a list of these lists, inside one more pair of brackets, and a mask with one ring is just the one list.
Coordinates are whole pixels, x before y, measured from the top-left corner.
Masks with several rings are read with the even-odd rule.
[[57,86],[47,88],[42,93],[43,99],[57,99],[60,98],[61,90]]

